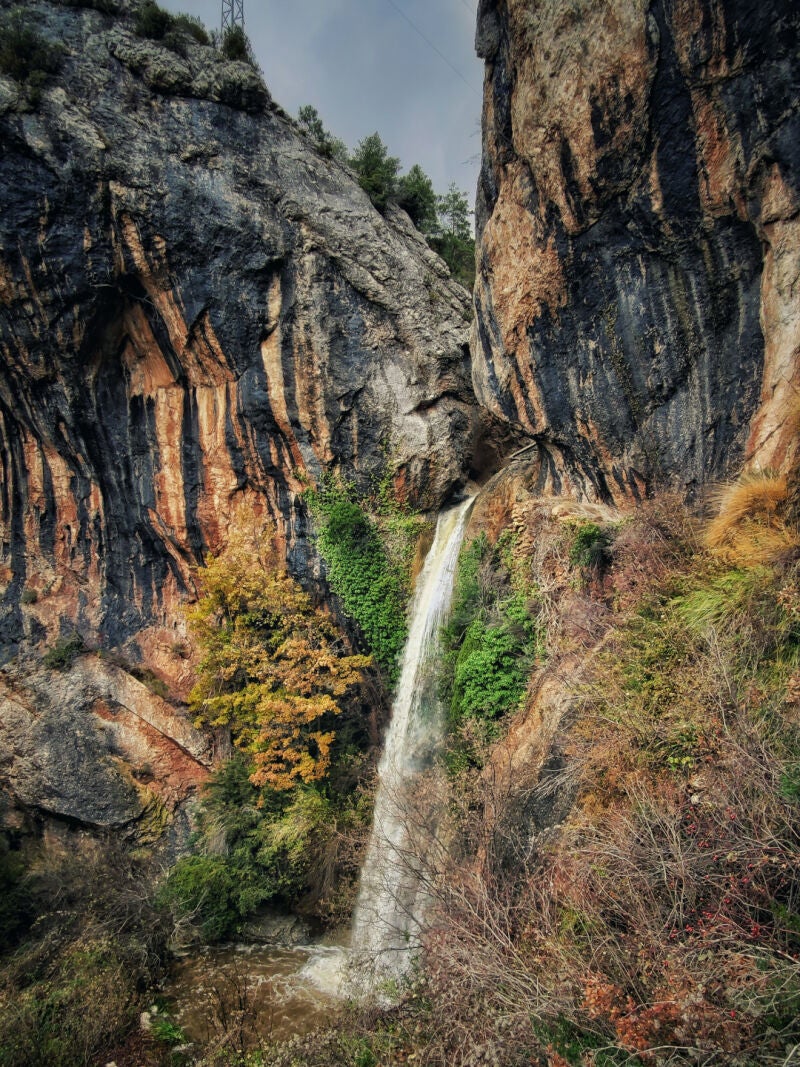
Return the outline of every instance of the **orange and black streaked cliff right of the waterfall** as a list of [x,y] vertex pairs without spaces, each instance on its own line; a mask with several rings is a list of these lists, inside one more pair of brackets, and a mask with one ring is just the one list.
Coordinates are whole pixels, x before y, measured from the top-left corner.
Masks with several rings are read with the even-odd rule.
[[798,428],[800,10],[482,0],[479,399],[622,500]]

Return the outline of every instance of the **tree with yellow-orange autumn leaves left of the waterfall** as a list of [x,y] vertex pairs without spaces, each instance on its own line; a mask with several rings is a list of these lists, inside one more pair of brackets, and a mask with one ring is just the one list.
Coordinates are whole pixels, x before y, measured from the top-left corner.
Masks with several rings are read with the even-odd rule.
[[341,698],[371,656],[343,654],[335,623],[286,573],[269,535],[242,516],[199,572],[189,615],[203,657],[190,702],[198,726],[230,727],[272,790],[324,778]]

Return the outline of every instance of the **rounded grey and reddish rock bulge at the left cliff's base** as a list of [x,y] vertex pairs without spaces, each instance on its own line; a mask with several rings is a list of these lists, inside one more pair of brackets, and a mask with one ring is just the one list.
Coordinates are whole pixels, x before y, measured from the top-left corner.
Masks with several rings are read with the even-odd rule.
[[[175,708],[93,656],[69,671],[0,675],[0,770],[18,802],[121,829],[163,812],[208,776],[211,747]],[[165,829],[164,826],[158,827]]]

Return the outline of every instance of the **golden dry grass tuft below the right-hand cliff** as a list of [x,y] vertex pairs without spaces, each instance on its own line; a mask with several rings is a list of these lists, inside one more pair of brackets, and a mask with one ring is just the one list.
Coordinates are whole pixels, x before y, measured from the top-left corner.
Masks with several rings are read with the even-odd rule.
[[741,475],[717,494],[717,517],[706,528],[706,546],[739,567],[777,562],[797,552],[800,535],[786,521],[787,497],[784,475]]

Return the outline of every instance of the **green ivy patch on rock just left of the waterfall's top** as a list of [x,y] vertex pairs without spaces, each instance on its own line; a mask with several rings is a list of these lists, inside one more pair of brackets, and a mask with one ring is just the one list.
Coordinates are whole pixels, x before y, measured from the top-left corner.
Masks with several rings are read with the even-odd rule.
[[421,520],[394,504],[386,487],[371,503],[356,503],[352,490],[334,481],[306,498],[331,588],[394,684],[407,634],[410,571]]

